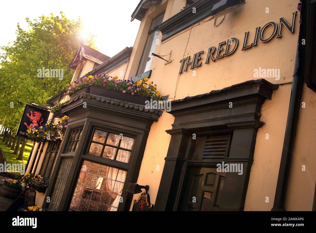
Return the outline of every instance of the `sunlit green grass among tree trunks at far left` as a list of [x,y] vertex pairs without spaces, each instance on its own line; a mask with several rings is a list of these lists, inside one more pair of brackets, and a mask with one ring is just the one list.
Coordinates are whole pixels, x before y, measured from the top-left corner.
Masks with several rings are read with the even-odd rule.
[[[27,159],[28,156],[30,155],[31,149],[33,147],[33,143],[27,142],[24,148],[24,152],[23,152],[23,161],[21,160],[16,160],[15,158],[18,157],[17,154],[12,154],[13,151],[10,150],[10,147],[7,147],[7,145],[4,144],[4,142],[2,142],[3,137],[0,137],[0,148],[4,153],[4,156],[7,160],[7,164],[25,164],[27,163]],[[11,143],[12,145],[12,143]],[[21,148],[20,144],[20,148]],[[12,172],[18,172],[17,170],[12,170]]]

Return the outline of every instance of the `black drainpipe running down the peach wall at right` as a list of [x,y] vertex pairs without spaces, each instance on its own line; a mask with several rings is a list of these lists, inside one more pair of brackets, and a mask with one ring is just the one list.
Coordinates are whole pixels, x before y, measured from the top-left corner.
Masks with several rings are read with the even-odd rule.
[[296,134],[296,126],[301,102],[301,93],[303,82],[298,77],[299,66],[299,43],[296,49],[295,67],[292,82],[291,97],[289,103],[288,119],[286,122],[286,129],[284,135],[283,149],[281,155],[281,163],[279,169],[279,175],[276,184],[276,194],[274,197],[274,204],[271,211],[285,211],[285,198],[287,191],[287,184],[289,179],[290,162],[293,154],[293,144]]

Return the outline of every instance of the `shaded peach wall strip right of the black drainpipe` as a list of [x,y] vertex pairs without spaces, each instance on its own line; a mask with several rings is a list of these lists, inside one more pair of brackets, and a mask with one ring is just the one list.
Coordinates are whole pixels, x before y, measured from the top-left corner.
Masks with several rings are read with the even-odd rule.
[[[304,84],[289,172],[285,210],[311,211],[316,183],[316,93]],[[305,171],[302,166],[305,166]]]

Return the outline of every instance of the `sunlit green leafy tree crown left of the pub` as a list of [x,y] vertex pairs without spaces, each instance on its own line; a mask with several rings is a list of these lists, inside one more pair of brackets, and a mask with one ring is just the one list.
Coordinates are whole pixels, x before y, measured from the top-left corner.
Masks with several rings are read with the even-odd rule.
[[[73,70],[68,65],[80,45],[82,22],[69,20],[52,13],[29,20],[28,30],[17,25],[16,39],[2,46],[0,56],[0,124],[7,114],[5,127],[15,131],[27,101],[44,105],[70,82]],[[95,36],[90,34],[86,45],[95,48]],[[38,69],[63,69],[63,80],[58,77],[38,77]],[[13,108],[10,107],[10,104]]]

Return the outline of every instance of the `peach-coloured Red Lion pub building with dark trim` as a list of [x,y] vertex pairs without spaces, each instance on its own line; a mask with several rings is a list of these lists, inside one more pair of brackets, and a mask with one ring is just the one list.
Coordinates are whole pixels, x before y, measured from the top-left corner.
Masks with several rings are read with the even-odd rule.
[[64,140],[34,147],[27,172],[49,180],[35,205],[315,210],[316,4],[298,3],[141,0],[133,47],[110,58],[82,43],[72,81],[148,78],[171,111],[92,87],[57,93],[47,103],[61,102],[70,122]]

